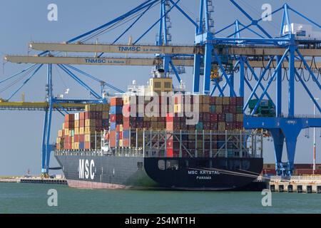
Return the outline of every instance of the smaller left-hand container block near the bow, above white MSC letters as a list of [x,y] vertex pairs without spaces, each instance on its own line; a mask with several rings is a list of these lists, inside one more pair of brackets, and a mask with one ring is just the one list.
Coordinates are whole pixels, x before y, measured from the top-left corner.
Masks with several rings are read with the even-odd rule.
[[57,150],[100,150],[101,135],[109,130],[109,105],[86,105],[86,112],[65,115],[58,131]]

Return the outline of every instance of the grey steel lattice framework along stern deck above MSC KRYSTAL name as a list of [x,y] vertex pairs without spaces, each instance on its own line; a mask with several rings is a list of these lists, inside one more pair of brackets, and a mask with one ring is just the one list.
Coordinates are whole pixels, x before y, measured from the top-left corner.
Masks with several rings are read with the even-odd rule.
[[144,157],[263,157],[263,132],[258,130],[134,130],[132,133]]

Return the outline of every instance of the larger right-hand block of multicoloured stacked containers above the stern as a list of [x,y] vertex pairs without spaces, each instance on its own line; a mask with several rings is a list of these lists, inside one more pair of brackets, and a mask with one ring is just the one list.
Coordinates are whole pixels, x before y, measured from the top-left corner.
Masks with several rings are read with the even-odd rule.
[[[131,99],[136,99],[136,105],[131,104]],[[142,99],[144,100],[143,102]],[[187,102],[185,99],[190,99],[190,102]],[[209,133],[210,130],[243,129],[243,98],[179,95],[174,100],[172,109],[167,105],[167,111],[164,114],[162,113],[162,99],[160,98],[157,113],[163,117],[148,117],[144,110],[146,105],[153,101],[153,98],[141,98],[138,96],[112,98],[110,146],[136,147],[137,142],[137,147],[143,147],[143,133],[141,131],[143,129],[166,130],[168,132],[182,130],[189,133],[195,133],[196,131],[197,136],[195,134],[187,135],[183,133],[183,145],[192,150],[193,148],[195,150],[196,147],[201,148],[198,149],[198,156],[208,156],[210,153],[210,135],[203,136],[203,130]],[[142,103],[144,105],[141,105]],[[191,110],[184,110],[186,103],[191,104]],[[198,109],[193,110],[193,107],[198,107]],[[185,116],[185,113],[188,111],[198,111],[199,121],[196,125],[187,124],[186,120],[188,118]],[[136,113],[136,116],[132,116],[130,113]],[[136,133],[136,130],[139,131]],[[203,137],[205,138],[205,145],[203,145]],[[212,144],[212,148],[218,149],[225,143],[225,135],[215,135],[212,141],[215,141]],[[168,157],[179,156],[180,144],[177,138],[170,138],[166,146]],[[233,149],[233,145],[230,145],[230,149]],[[188,152],[184,149],[182,156],[188,156]]]

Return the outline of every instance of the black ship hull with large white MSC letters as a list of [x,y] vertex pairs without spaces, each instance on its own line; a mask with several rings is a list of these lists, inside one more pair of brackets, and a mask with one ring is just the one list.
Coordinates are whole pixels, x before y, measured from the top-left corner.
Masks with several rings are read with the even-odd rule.
[[56,155],[70,187],[138,190],[242,190],[263,158]]

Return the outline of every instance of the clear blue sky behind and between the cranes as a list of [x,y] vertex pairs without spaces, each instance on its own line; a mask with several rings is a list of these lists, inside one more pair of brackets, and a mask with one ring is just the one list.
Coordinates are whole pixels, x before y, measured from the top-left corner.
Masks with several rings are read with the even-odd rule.
[[[96,28],[106,21],[109,21],[136,6],[139,1],[46,1],[46,0],[11,0],[1,1],[0,7],[0,54],[16,53],[26,54],[28,51],[27,44],[30,41],[66,41],[81,34],[91,28]],[[215,0],[215,28],[218,30],[232,23],[235,19],[240,19],[243,24],[248,24],[248,20],[244,18],[240,11],[230,4],[230,1]],[[292,1],[245,1],[238,0],[250,15],[258,18],[261,11],[261,6],[265,3],[270,3],[272,9],[282,6],[285,2],[293,8],[310,16],[318,23],[321,21],[320,16],[320,1],[306,0],[304,3],[299,0]],[[58,21],[50,22],[47,20],[47,6],[51,3],[58,5]],[[190,14],[193,19],[198,17],[198,1],[181,0],[180,5]],[[139,26],[131,30],[121,42],[127,43],[129,36],[133,39],[137,38],[149,25],[157,20],[159,9],[153,9],[151,13],[143,17]],[[273,35],[277,35],[280,27],[280,14],[273,17],[272,22],[266,22],[262,25]],[[173,36],[173,43],[193,44],[194,28],[186,19],[181,16],[178,11],[173,11],[171,14],[173,28],[170,33]],[[291,15],[293,22],[303,22],[297,16]],[[124,28],[124,27],[123,27]],[[316,29],[316,28],[315,28]],[[118,28],[111,33],[107,33],[99,38],[101,42],[110,42],[116,38],[116,34],[121,32]],[[146,36],[142,43],[154,43],[157,28]],[[245,34],[246,35],[246,34]],[[94,41],[92,41],[94,42]],[[1,64],[0,80],[6,76],[10,76],[19,70],[26,68],[26,65],[14,65],[11,63]],[[81,66],[79,67],[88,73],[101,78],[109,83],[112,83],[118,88],[126,90],[126,85],[136,79],[138,83],[145,84],[148,81],[148,75],[151,71],[150,67],[98,67],[98,66]],[[187,83],[188,88],[191,88],[192,70],[182,76]],[[20,82],[21,83],[21,82]],[[89,84],[98,90],[99,86],[95,83]],[[44,100],[45,98],[46,71],[41,70],[37,76],[21,92],[26,93],[26,100],[36,101]],[[8,84],[6,84],[8,85]],[[20,85],[20,84],[18,84]],[[7,98],[12,91],[18,87],[13,86],[9,90],[0,93],[0,98]],[[320,90],[312,85],[308,85],[315,92],[315,96],[321,97]],[[284,86],[284,111],[287,108],[287,83]],[[302,86],[296,84],[297,93],[295,98],[297,103],[295,108],[297,113],[311,114],[312,103],[308,98]],[[273,87],[273,86],[272,86]],[[4,86],[0,86],[4,88]],[[68,98],[88,98],[88,93],[85,90],[76,86],[73,81],[67,78],[61,71],[54,68],[54,93],[63,93],[65,88],[70,88],[71,93]],[[236,88],[237,89],[237,88]],[[271,88],[270,94],[274,97],[274,88]],[[21,93],[17,94],[14,100],[21,100]],[[30,169],[32,174],[38,174],[41,164],[41,134],[43,125],[44,113],[42,112],[0,112],[0,175],[22,175],[26,170]],[[61,115],[55,114],[52,127],[52,142],[54,142],[57,131],[61,128],[63,118]],[[320,130],[317,130],[317,143],[320,145]],[[310,130],[312,136],[312,130]],[[265,142],[264,147],[265,162],[274,162],[274,153],[272,142]],[[284,156],[283,160],[285,160]],[[297,156],[295,162],[312,162],[312,139],[304,138],[304,132],[300,135],[297,145]],[[317,162],[321,162],[321,150],[318,150]],[[54,158],[51,162],[52,166],[56,165]]]

